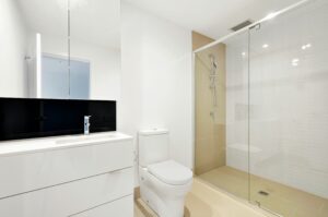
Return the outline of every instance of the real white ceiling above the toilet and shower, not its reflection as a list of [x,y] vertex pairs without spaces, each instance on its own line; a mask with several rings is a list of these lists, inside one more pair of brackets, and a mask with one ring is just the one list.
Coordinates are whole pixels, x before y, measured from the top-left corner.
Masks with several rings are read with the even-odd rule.
[[258,21],[300,0],[122,0],[218,39],[245,20]]

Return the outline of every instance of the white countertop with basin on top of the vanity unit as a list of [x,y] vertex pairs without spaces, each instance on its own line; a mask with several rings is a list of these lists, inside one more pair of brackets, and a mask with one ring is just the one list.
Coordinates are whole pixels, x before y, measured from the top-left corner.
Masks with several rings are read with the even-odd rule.
[[90,135],[60,135],[16,141],[0,142],[0,157],[26,153],[48,152],[78,146],[97,145],[104,142],[131,140],[132,137],[119,132],[91,133]]

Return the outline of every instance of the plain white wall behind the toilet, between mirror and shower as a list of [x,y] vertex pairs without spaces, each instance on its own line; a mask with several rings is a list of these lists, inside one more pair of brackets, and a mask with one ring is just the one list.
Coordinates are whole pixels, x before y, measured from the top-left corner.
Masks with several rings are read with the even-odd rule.
[[191,168],[191,31],[121,8],[118,129],[137,137],[140,129],[167,128],[171,157]]

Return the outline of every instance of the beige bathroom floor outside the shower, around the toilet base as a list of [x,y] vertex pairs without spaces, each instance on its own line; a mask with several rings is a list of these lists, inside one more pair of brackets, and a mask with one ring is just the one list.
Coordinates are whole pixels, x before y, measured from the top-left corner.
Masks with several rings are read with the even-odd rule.
[[[141,202],[141,203],[140,203]],[[134,217],[156,217],[139,198],[134,204]],[[199,178],[194,179],[186,197],[186,217],[273,217],[241,200],[219,191]]]

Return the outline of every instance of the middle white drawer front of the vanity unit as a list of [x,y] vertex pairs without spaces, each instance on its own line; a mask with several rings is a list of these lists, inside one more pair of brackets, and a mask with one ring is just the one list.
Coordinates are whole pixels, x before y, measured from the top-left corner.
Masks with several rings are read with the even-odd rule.
[[0,200],[0,216],[67,217],[131,195],[133,169],[114,171]]

